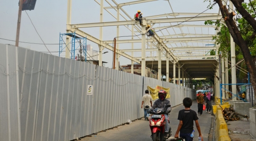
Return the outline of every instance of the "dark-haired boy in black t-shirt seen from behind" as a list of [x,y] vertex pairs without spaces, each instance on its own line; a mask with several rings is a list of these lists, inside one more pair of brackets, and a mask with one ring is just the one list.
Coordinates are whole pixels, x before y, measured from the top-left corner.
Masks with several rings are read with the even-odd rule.
[[190,137],[190,135],[193,132],[193,121],[195,121],[199,136],[201,137],[201,141],[203,141],[197,114],[194,110],[190,109],[190,107],[192,106],[191,98],[184,98],[183,105],[185,109],[179,111],[178,120],[180,120],[180,123],[174,135],[174,138],[178,138],[180,132],[180,137],[182,137],[186,141],[193,141],[193,138]]

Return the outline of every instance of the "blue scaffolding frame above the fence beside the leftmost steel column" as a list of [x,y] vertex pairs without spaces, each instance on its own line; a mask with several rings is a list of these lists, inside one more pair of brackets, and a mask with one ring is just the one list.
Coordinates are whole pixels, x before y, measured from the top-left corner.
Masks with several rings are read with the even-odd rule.
[[[63,36],[70,36],[72,37],[71,41],[66,43],[63,39]],[[63,50],[67,47],[68,44],[71,43],[71,50],[69,50],[71,54],[71,59],[75,59],[75,50],[77,50],[78,47],[80,47],[80,44],[78,47],[75,48],[75,40],[82,40],[82,50],[83,50],[83,55],[86,61],[86,37],[78,37],[76,36],[75,32],[74,33],[60,33],[60,40],[59,40],[59,56],[63,52]],[[63,44],[65,44],[65,47],[63,48]]]

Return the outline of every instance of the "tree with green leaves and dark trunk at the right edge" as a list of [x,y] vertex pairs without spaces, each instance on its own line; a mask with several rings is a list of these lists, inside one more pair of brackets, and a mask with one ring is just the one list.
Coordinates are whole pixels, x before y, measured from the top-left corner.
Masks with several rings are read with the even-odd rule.
[[[204,1],[210,2],[210,8],[218,4],[225,22],[225,25],[222,25],[220,20],[214,22],[220,28],[220,32],[218,32],[219,37],[215,37],[216,42],[220,46],[219,51],[222,52],[222,55],[229,55],[231,35],[233,41],[240,49],[238,50],[237,48],[236,50],[238,51],[237,58],[244,58],[244,63],[250,73],[251,83],[254,90],[256,90],[256,66],[253,59],[256,54],[256,0],[249,0],[249,3],[245,3],[244,0],[230,0],[236,7],[235,11],[237,13],[231,12],[232,9],[227,8],[226,3],[223,5],[222,0],[213,0],[213,4],[211,0]],[[236,15],[237,18],[234,20]],[[206,24],[211,24],[211,22],[206,21]]]

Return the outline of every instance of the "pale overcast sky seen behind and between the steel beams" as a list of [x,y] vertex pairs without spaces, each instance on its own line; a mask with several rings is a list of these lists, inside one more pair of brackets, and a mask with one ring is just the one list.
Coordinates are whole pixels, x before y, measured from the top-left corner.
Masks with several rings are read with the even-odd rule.
[[[0,0],[0,38],[15,40],[16,30],[17,30],[17,20],[18,20],[18,1],[19,0]],[[100,2],[100,0],[97,0]],[[113,6],[115,4],[112,0],[108,0]],[[136,0],[116,0],[117,3],[124,3],[128,1]],[[170,0],[171,6],[174,13],[201,13],[207,9],[209,2],[203,2],[203,0]],[[110,5],[104,1],[104,7],[109,7]],[[133,17],[137,13],[137,10],[141,10],[144,17],[172,13],[170,5],[166,0],[157,0],[153,2],[146,2],[136,5],[128,5],[122,7],[130,17]],[[218,6],[216,5],[213,9],[206,11],[205,13],[217,13]],[[117,12],[113,9],[109,9],[113,15],[117,15]],[[120,12],[124,15],[123,12]],[[47,44],[56,45],[46,45],[50,51],[59,51],[59,34],[66,32],[66,15],[67,15],[67,0],[37,0],[35,10],[27,11],[27,14],[31,18],[33,24],[35,25],[37,32],[42,37],[43,41]],[[34,27],[32,26],[28,16],[25,11],[22,11],[21,16],[21,27],[20,27],[20,38],[19,41],[33,42],[33,43],[43,43],[39,36],[37,35]],[[103,11],[103,21],[116,21],[106,10]],[[192,17],[192,16],[190,16]],[[128,17],[126,17],[128,18]],[[164,17],[160,17],[164,18]],[[173,17],[169,17],[173,18]],[[120,16],[120,20],[125,20]],[[72,3],[72,24],[80,23],[96,23],[100,22],[100,5],[94,0],[73,0]],[[204,22],[190,22],[189,24],[200,24],[203,25]],[[174,25],[177,23],[174,23]],[[185,23],[184,23],[185,24]],[[186,23],[188,24],[188,23]],[[166,26],[166,24],[155,24],[154,27]],[[131,25],[128,25],[131,28]],[[82,30],[90,35],[99,38],[99,27],[94,28],[83,28]],[[201,29],[201,28],[186,28],[181,31],[179,28],[170,28],[168,31],[163,31],[163,33],[158,32],[157,34],[178,34],[178,33],[203,33],[203,34],[215,34],[213,29]],[[121,26],[119,30],[120,36],[131,35],[131,32]],[[116,37],[116,27],[109,26],[103,27],[103,40],[113,40]],[[4,44],[15,44],[14,41],[6,41],[0,39],[0,43]],[[131,39],[131,37],[124,37],[120,40]],[[136,38],[135,38],[136,39]],[[87,44],[91,44],[93,50],[99,50],[98,45],[87,41]],[[78,44],[76,44],[77,46]],[[195,44],[193,46],[204,46],[205,44]],[[29,43],[19,43],[20,47],[29,48],[31,50],[37,51],[47,51],[44,45],[29,44]],[[186,46],[184,44],[177,44],[176,46]],[[141,43],[135,43],[135,49],[139,49]],[[168,47],[175,47],[175,45],[169,45]],[[130,49],[130,44],[120,44],[119,49]],[[109,51],[109,53],[103,54],[103,60],[108,62],[106,66],[112,67],[112,52],[108,49],[104,51]],[[57,52],[52,54],[58,55]],[[129,54],[129,53],[128,53]],[[156,52],[155,52],[156,54]],[[64,57],[62,53],[61,57]],[[141,53],[137,52],[134,54],[136,57],[140,57]],[[146,56],[149,54],[146,53]],[[121,65],[131,64],[131,61],[121,57],[119,59]]]

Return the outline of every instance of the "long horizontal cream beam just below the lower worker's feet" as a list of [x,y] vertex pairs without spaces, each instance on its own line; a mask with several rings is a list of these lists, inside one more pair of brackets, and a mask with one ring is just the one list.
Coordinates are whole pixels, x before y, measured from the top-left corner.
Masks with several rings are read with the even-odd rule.
[[[148,39],[147,42],[155,42],[157,37],[154,39]],[[117,40],[117,43],[132,43],[132,42],[141,42],[143,38],[136,40]],[[158,38],[158,41],[197,41],[197,40],[212,40],[212,37],[182,37],[182,38]],[[158,42],[157,41],[157,42]],[[103,41],[103,43],[112,43],[113,41]]]

